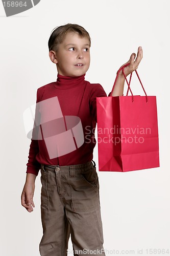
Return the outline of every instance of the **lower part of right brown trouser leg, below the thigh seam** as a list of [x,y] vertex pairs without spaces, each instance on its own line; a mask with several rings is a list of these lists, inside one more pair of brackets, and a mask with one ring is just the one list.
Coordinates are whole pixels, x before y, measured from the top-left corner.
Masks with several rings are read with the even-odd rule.
[[74,255],[104,256],[100,206],[85,212],[68,214]]

